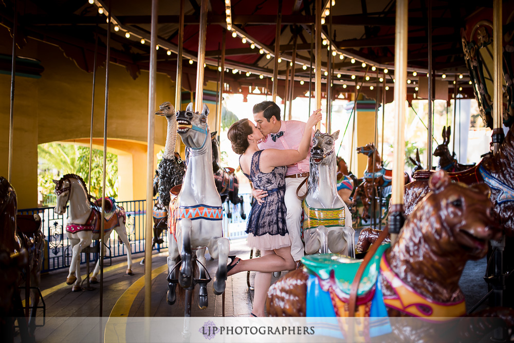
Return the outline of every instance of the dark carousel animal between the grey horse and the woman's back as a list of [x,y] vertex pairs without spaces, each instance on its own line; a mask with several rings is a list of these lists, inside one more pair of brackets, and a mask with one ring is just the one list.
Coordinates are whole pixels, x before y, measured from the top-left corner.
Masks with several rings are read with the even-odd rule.
[[245,209],[243,207],[243,196],[239,195],[239,180],[234,173],[234,168],[222,167],[219,163],[219,145],[216,139],[216,131],[211,132],[212,144],[212,171],[214,173],[214,184],[218,190],[219,197],[222,198],[222,203],[227,202],[227,218],[232,218],[230,206],[228,202],[237,205],[240,204],[239,213],[241,219],[246,219]]

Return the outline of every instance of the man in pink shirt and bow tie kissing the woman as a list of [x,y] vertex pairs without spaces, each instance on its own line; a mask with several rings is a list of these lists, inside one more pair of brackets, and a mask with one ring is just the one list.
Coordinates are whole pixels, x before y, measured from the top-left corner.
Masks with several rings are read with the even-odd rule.
[[[253,106],[253,119],[265,138],[258,144],[260,149],[297,149],[300,145],[305,123],[297,120],[280,120],[280,107],[276,103],[263,101]],[[300,259],[305,253],[300,237],[302,200],[298,198],[296,192],[300,183],[309,176],[309,158],[310,153],[305,160],[288,165],[286,173],[286,192],[284,197],[287,208],[286,225],[291,239],[291,255],[297,262],[297,268]],[[299,194],[302,195],[305,192],[307,192],[307,183],[302,186]],[[262,189],[254,189],[252,194],[261,203],[267,196],[266,192]]]

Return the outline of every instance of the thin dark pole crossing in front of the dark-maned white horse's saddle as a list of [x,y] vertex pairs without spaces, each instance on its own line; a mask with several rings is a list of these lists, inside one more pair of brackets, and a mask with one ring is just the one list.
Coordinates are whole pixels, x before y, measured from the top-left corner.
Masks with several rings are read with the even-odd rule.
[[105,235],[105,173],[107,164],[107,113],[109,108],[109,61],[111,61],[111,3],[107,16],[107,53],[105,59],[105,110],[103,117],[102,212],[100,216],[100,315],[103,317],[103,245]]

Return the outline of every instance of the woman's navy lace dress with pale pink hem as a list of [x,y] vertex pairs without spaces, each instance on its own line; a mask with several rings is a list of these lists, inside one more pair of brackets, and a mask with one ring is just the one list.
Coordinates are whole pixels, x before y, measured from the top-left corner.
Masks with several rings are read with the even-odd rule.
[[263,150],[256,151],[250,164],[250,175],[246,175],[255,189],[268,192],[264,203],[253,202],[246,233],[248,246],[260,250],[273,250],[290,246],[286,227],[284,194],[287,167],[275,167],[270,173],[261,172],[260,161]]

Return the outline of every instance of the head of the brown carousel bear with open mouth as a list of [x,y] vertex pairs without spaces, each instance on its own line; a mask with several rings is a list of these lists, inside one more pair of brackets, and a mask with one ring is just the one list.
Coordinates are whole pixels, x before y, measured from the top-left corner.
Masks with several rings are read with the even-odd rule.
[[[438,170],[430,178],[429,187],[431,192],[416,206],[398,241],[423,241],[430,247],[431,256],[484,257],[487,242],[501,235],[489,186],[453,183],[444,170]],[[416,229],[408,230],[410,227]]]

